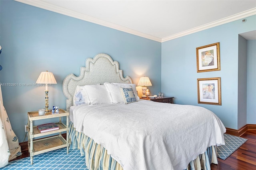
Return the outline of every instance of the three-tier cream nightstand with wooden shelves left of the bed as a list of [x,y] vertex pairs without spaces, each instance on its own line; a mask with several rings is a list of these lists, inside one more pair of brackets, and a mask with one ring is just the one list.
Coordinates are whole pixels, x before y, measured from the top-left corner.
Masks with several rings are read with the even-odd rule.
[[[61,117],[67,117],[66,125],[62,123]],[[49,132],[40,133],[40,131],[37,129],[37,126],[33,126],[33,121],[36,120],[42,120],[42,119],[50,119],[54,117],[59,117],[59,122],[56,123],[58,125],[59,129]],[[67,153],[69,149],[69,139],[68,139],[68,132],[69,132],[69,112],[59,109],[58,114],[52,114],[48,113],[45,115],[38,115],[38,111],[30,111],[28,112],[28,151],[30,152],[30,162],[33,164],[33,156],[37,154],[41,154],[44,152],[49,152],[51,150],[60,149],[67,147]],[[61,132],[66,131],[67,136],[66,139],[64,139],[61,135]],[[46,137],[43,139],[38,139],[36,141],[33,141],[33,138],[35,137],[41,137],[45,135],[51,135],[54,133],[59,133],[56,136]]]

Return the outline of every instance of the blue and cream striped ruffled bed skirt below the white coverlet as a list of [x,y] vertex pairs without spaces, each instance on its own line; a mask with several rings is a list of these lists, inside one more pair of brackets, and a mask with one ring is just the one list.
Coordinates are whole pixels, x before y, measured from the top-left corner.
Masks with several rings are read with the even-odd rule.
[[[82,132],[76,131],[70,121],[71,140],[70,149],[80,149],[81,156],[85,156],[85,164],[90,170],[122,170],[122,166],[114,160],[107,150],[100,144],[95,143]],[[210,170],[210,164],[218,164],[216,146],[208,147],[206,152],[197,156],[187,167],[187,170]]]

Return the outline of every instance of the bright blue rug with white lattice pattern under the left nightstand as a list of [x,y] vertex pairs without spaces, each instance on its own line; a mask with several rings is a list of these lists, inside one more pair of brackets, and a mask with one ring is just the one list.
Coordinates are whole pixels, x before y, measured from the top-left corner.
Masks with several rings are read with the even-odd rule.
[[85,157],[80,150],[67,148],[57,149],[34,156],[33,165],[30,157],[9,162],[0,170],[86,170]]

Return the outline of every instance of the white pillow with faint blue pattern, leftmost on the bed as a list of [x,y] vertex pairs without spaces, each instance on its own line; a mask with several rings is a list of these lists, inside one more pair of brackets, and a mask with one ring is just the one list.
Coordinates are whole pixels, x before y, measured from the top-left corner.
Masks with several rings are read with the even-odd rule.
[[90,103],[88,94],[86,90],[83,89],[84,86],[76,86],[76,90],[73,97],[73,105],[78,106],[83,103]]

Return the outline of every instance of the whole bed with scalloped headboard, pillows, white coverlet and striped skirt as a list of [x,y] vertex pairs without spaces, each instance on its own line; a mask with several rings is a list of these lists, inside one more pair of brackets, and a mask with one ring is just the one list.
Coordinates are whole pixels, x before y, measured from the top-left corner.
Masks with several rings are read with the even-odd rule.
[[88,169],[210,169],[226,128],[199,106],[141,100],[119,63],[104,53],[86,59],[63,82],[70,149]]

